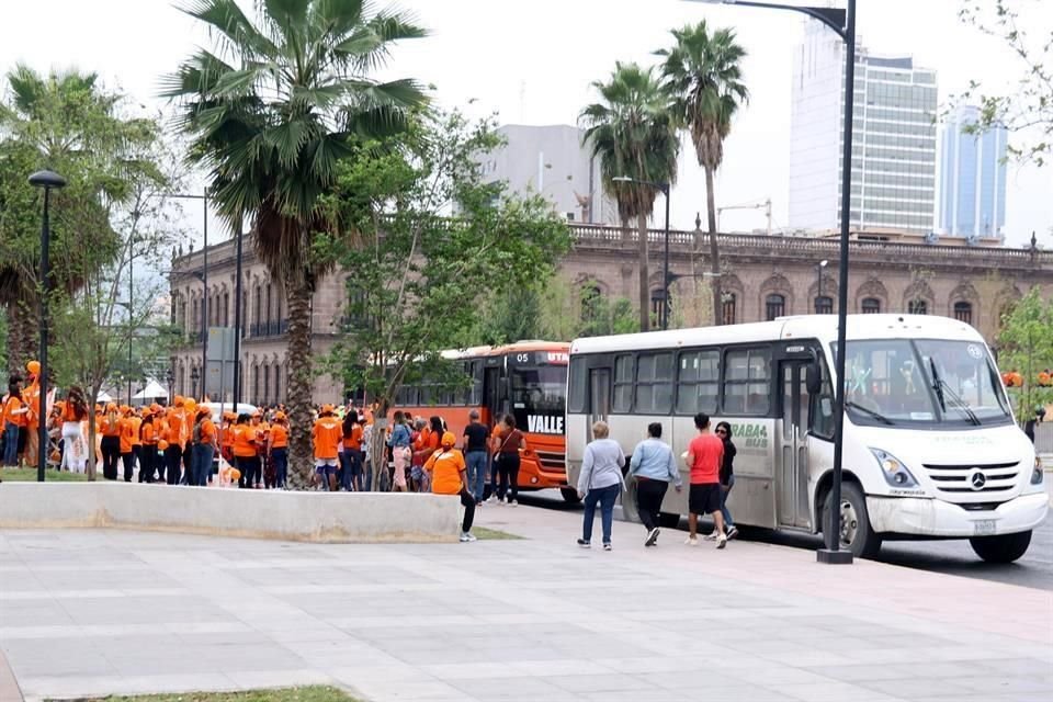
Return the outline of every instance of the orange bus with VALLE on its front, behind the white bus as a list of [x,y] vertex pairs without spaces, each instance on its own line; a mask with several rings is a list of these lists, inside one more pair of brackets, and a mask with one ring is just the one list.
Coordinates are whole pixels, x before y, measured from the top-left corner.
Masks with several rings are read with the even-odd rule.
[[415,417],[442,417],[458,442],[471,410],[479,410],[482,421],[491,429],[501,417],[512,415],[526,440],[520,456],[519,489],[558,488],[564,499],[577,501],[577,490],[567,485],[564,430],[570,344],[518,341],[443,355],[461,364],[472,386],[439,390],[428,384],[406,385],[396,396],[394,409]]

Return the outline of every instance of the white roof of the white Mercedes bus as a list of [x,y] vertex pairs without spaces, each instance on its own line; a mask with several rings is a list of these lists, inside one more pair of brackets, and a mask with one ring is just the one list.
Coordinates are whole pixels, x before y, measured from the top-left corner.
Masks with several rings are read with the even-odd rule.
[[[931,315],[849,315],[849,339],[937,338],[983,341],[980,332],[964,321]],[[638,349],[668,349],[707,344],[754,343],[778,339],[837,338],[837,315],[779,317],[721,327],[694,327],[646,331],[610,337],[575,339],[570,353],[604,353]]]

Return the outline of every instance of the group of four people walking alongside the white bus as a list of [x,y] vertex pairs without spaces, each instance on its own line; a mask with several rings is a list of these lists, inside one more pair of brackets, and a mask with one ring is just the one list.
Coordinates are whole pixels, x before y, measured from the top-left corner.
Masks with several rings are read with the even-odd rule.
[[[727,508],[727,495],[735,486],[736,449],[729,423],[717,423],[715,432],[710,423],[709,415],[700,412],[694,416],[694,426],[699,433],[681,455],[681,461],[690,471],[689,533],[684,543],[689,546],[699,545],[699,516],[709,514],[713,518],[715,528],[705,539],[716,542],[717,548],[724,548],[728,540],[738,534]],[[578,545],[582,548],[591,547],[592,523],[599,506],[603,550],[611,551],[614,502],[626,487],[626,478],[622,473],[625,468],[625,454],[621,444],[610,438],[607,422],[593,423],[592,435],[595,439],[585,449],[581,473],[578,476],[578,497],[585,501],[585,520]],[[678,492],[683,489],[672,449],[661,440],[659,422],[649,424],[647,437],[633,449],[627,479],[635,480],[636,510],[647,531],[644,545],[654,546],[661,532],[659,510],[669,484],[672,483]]]

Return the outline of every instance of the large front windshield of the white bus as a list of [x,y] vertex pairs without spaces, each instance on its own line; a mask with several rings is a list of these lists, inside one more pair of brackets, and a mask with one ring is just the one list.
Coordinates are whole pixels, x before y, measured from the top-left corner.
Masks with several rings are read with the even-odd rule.
[[992,426],[1011,421],[982,343],[943,339],[848,342],[845,409],[869,426]]

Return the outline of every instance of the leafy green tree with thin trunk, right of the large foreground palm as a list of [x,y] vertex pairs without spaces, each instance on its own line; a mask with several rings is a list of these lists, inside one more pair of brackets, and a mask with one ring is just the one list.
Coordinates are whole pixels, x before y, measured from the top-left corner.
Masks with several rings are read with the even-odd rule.
[[[467,346],[485,296],[528,288],[569,250],[566,223],[544,200],[483,182],[478,155],[498,144],[491,120],[421,114],[405,136],[337,168],[326,201],[338,228],[319,254],[354,274],[330,363],[365,390],[382,427],[405,383],[456,382],[439,350]],[[382,442],[378,431],[374,465]]]

